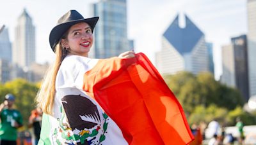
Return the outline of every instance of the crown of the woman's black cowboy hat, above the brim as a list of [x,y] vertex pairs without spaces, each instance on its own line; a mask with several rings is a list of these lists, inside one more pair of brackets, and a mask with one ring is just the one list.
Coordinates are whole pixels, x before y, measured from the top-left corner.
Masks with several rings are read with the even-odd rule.
[[81,19],[84,19],[84,17],[80,13],[78,13],[76,10],[70,10],[58,20],[57,25]]

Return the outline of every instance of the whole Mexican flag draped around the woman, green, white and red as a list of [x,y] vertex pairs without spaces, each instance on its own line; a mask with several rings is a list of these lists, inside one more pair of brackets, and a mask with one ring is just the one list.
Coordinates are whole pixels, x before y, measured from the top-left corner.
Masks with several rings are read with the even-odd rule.
[[[72,68],[72,69],[70,69]],[[188,144],[184,111],[143,53],[131,59],[65,57],[54,115],[44,114],[39,144]]]

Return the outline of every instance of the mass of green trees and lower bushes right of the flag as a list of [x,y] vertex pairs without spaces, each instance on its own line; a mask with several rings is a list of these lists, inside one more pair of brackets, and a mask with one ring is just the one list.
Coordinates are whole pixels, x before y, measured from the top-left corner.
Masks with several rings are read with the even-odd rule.
[[237,116],[244,124],[256,123],[253,114],[241,108],[245,102],[241,93],[222,85],[209,72],[197,76],[191,72],[180,72],[164,76],[164,80],[188,115],[189,124],[218,120],[223,125],[234,125]]

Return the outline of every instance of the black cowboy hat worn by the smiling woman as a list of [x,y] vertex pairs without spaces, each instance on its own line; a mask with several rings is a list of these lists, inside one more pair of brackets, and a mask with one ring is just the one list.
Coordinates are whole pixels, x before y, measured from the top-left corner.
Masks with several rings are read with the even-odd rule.
[[90,25],[92,32],[93,29],[99,20],[99,17],[92,17],[92,18],[84,18],[80,13],[76,10],[70,10],[65,15],[63,15],[59,20],[57,25],[52,29],[49,37],[50,45],[52,51],[54,52],[55,46],[60,41],[63,34],[68,31],[68,29],[79,22],[86,22]]

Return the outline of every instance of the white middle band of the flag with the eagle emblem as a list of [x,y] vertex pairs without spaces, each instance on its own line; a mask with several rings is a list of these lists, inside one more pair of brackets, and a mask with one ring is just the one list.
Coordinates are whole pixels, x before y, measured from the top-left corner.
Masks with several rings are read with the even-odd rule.
[[61,63],[56,76],[54,116],[49,117],[51,144],[127,144],[116,123],[83,91],[84,73],[97,62],[68,55]]

